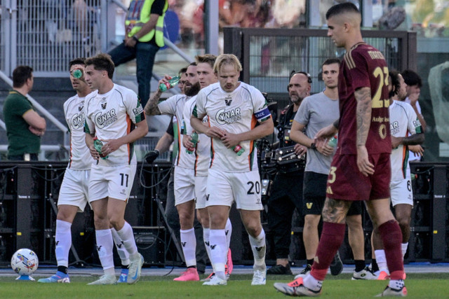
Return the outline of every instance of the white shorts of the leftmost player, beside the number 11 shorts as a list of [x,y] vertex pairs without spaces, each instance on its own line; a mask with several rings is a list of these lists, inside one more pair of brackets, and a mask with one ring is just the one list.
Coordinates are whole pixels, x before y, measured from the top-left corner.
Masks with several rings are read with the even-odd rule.
[[64,179],[59,190],[58,206],[67,204],[78,207],[78,211],[84,211],[88,202],[90,174],[90,169],[65,169]]

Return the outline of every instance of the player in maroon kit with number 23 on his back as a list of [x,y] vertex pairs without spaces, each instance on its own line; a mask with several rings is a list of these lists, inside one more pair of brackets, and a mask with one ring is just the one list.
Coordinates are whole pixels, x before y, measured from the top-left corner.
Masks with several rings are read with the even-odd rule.
[[390,275],[380,296],[406,296],[402,233],[390,210],[389,70],[379,50],[363,42],[361,14],[354,4],[337,4],[326,13],[328,36],[347,53],[340,65],[340,119],[316,134],[316,142],[338,135],[328,176],[323,232],[311,272],[290,284],[274,284],[287,295],[318,296],[328,267],[344,239],[346,214],[354,200],[365,200],[384,243]]

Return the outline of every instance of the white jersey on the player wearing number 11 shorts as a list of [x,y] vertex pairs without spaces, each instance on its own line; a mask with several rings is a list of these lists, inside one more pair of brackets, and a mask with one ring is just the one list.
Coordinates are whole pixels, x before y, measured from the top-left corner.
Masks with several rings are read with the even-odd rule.
[[[100,95],[98,90],[86,97],[84,132],[95,134],[100,140],[119,139],[129,134],[136,123],[145,120],[138,95],[128,88],[114,84],[112,90]],[[117,166],[137,164],[133,144],[123,144],[98,160],[98,165]]]

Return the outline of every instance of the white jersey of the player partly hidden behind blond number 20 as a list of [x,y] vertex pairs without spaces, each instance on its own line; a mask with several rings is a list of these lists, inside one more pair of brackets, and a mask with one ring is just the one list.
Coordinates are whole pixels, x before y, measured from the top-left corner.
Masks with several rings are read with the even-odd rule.
[[[185,102],[184,106],[184,125],[187,135],[191,135],[194,129],[192,125],[190,125],[190,116],[194,111],[196,105],[196,96],[190,98],[187,102]],[[203,123],[208,125],[208,117],[205,116],[203,118]],[[196,144],[196,148],[192,155],[195,156],[195,176],[207,176],[208,168],[210,165],[210,137],[206,134],[198,135],[198,143]]]

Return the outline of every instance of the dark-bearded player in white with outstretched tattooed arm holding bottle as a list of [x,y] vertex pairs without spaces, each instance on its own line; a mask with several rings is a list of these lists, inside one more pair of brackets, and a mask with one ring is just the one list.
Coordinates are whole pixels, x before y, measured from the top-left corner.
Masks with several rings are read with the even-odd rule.
[[[170,77],[163,78],[159,84],[165,83]],[[196,62],[192,62],[187,67],[185,73],[184,92],[185,95],[174,95],[166,101],[159,102],[150,98],[145,105],[145,113],[149,116],[166,114],[176,116],[177,122],[182,123],[182,113],[185,102],[198,94],[201,86],[196,73]],[[177,137],[179,151],[175,160],[175,206],[180,217],[180,239],[182,252],[184,253],[187,270],[173,280],[175,281],[199,281],[199,274],[196,270],[196,237],[194,232],[195,219],[195,155],[189,155],[187,148],[182,143],[184,135],[177,126]]]

